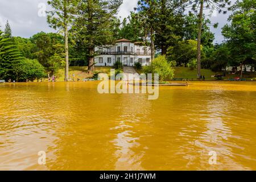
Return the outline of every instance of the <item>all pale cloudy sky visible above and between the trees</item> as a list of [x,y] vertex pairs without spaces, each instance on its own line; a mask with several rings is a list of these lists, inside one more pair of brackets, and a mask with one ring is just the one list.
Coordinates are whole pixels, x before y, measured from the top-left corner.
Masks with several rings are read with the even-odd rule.
[[[118,16],[125,18],[137,6],[138,0],[123,0],[123,5],[119,10]],[[233,0],[234,1],[234,0]],[[55,32],[49,28],[46,17],[42,16],[43,5],[46,5],[47,0],[1,0],[0,1],[0,26],[5,27],[6,20],[9,20],[14,36],[22,36],[29,38],[37,32]],[[49,9],[46,6],[46,9]],[[214,42],[222,42],[221,27],[226,24],[229,14],[214,13],[210,18],[212,23],[219,23],[218,28],[212,28],[216,36]]]

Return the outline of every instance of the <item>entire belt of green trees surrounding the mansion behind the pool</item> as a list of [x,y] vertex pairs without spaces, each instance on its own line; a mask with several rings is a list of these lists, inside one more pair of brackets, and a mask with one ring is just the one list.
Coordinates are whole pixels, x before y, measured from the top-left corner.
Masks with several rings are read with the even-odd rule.
[[[209,27],[216,27],[217,22],[212,24],[203,10],[221,12],[229,4],[226,0],[138,0],[135,11],[122,22],[116,16],[122,0],[51,0],[48,3],[53,7],[48,12],[48,23],[58,28],[58,33],[15,37],[7,22],[0,35],[0,78],[32,81],[43,77],[40,76],[43,70],[54,75],[65,66],[66,76],[69,65],[89,65],[88,70],[93,71],[94,48],[106,47],[122,38],[150,46],[152,60],[156,54],[162,54],[172,66],[197,68],[197,76],[201,67],[222,71],[227,66],[254,68],[256,65],[256,0],[240,0],[230,8],[230,23],[222,28],[226,41],[216,45]],[[185,11],[189,4],[193,13]],[[154,64],[165,66],[159,63],[159,60],[165,63],[165,58],[157,60],[145,69],[153,70]],[[30,68],[31,63],[40,72],[36,77],[20,71]],[[140,69],[141,65],[136,63],[135,67]]]

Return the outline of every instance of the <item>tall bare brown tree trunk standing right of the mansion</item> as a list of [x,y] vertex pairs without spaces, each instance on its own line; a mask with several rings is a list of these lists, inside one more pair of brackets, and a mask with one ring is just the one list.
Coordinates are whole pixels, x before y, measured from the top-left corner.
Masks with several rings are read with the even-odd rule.
[[204,1],[201,0],[197,35],[197,78],[201,77],[201,33],[202,33],[202,19],[203,19],[203,7]]

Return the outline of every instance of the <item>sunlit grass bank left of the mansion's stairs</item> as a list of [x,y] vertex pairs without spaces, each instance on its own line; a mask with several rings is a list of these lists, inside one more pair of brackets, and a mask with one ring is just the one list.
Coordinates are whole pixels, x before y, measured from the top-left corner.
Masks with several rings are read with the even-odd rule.
[[[77,78],[82,80],[92,76],[87,73],[87,69],[88,67],[69,67],[69,75],[71,78],[73,78],[73,74],[75,74],[75,80],[77,80]],[[95,71],[100,73],[107,73],[108,75],[110,75],[110,69],[112,69],[112,67],[95,67]],[[57,81],[64,81],[65,69],[60,69],[56,76]]]

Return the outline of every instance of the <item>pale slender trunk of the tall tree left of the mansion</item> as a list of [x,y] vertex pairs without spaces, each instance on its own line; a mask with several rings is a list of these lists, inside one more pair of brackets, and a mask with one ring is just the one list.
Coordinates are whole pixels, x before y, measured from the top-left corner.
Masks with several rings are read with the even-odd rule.
[[64,5],[64,37],[65,37],[65,81],[68,81],[68,24],[67,24],[67,7]]

